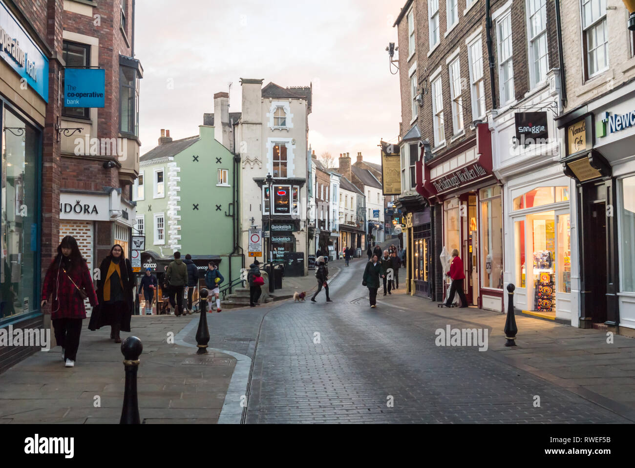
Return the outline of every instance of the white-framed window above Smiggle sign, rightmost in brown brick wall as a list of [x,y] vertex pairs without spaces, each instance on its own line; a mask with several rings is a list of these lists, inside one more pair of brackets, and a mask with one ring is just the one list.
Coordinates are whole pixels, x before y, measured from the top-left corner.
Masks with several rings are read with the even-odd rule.
[[[527,0],[531,88],[547,77],[547,0]],[[606,3],[606,0],[600,0]]]

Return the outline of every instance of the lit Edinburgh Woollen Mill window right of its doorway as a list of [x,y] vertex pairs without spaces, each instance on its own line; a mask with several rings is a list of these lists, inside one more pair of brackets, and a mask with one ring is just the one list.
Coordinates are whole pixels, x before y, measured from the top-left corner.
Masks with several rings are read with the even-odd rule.
[[[495,191],[495,188],[498,190]],[[497,195],[493,196],[495,192]],[[488,195],[490,197],[488,197]],[[481,265],[483,288],[503,288],[503,210],[500,187],[482,189]]]

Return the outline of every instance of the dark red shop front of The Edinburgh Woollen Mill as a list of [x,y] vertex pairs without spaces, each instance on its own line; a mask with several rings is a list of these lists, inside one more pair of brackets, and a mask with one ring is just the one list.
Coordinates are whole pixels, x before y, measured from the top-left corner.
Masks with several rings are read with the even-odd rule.
[[469,305],[504,311],[502,183],[492,172],[488,124],[478,124],[475,138],[440,157],[425,157],[424,145],[417,164],[417,192],[435,212],[434,252],[443,299],[450,284],[444,272],[457,249]]

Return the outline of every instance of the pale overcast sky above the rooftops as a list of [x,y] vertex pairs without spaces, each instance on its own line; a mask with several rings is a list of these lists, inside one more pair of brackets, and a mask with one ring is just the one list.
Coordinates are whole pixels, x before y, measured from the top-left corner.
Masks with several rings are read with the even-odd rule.
[[[280,86],[313,83],[309,144],[380,162],[380,138],[396,142],[399,76],[389,72],[392,27],[404,0],[137,0],[141,154],[161,128],[197,135],[213,95],[230,93],[240,112],[240,78]],[[393,67],[394,71],[394,67]],[[337,166],[337,162],[335,163]]]

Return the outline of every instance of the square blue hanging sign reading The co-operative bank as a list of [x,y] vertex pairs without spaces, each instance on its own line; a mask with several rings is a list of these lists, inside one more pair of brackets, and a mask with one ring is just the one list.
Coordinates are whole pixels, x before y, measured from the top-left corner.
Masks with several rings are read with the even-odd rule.
[[106,70],[67,68],[64,70],[64,107],[104,107]]

